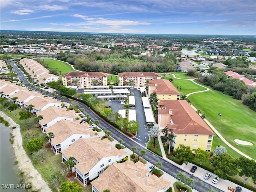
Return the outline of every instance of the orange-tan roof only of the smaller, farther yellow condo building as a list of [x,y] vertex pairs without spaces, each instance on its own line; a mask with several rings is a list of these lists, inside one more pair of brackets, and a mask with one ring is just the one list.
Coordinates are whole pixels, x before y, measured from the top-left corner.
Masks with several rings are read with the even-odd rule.
[[162,94],[162,95],[180,95],[180,92],[173,86],[173,84],[167,80],[167,79],[156,79],[151,80],[148,84],[148,86],[155,86],[156,85],[156,94]]

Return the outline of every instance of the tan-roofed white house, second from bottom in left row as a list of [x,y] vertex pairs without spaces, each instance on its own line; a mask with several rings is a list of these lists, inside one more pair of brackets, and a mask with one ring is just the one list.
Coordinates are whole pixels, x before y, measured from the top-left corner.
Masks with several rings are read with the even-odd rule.
[[62,150],[62,162],[74,157],[76,165],[72,169],[76,172],[76,180],[85,186],[102,174],[107,166],[120,161],[127,156],[126,151],[112,147],[108,139],[79,138],[70,147]]

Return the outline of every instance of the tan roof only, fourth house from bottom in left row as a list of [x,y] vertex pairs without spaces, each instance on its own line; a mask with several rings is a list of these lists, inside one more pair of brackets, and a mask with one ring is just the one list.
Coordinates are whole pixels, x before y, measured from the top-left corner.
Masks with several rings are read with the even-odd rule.
[[40,123],[42,125],[47,124],[48,122],[54,120],[57,117],[73,118],[73,120],[75,120],[76,117],[80,117],[74,110],[67,111],[65,107],[61,108],[53,106],[50,106],[46,110],[38,112],[37,116],[39,115],[43,117],[43,119],[40,120]]

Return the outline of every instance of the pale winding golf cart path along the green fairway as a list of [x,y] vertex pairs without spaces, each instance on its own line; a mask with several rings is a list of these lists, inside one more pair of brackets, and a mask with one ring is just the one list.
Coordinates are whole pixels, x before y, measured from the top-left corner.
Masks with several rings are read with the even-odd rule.
[[[173,76],[174,78],[176,78],[176,79],[192,81],[194,84],[197,84],[197,85],[199,85],[199,86],[201,86],[201,87],[203,87],[203,88],[206,88],[206,90],[196,91],[196,92],[189,93],[189,94],[186,95],[186,98],[187,98],[188,96],[190,96],[191,94],[200,93],[200,92],[205,92],[205,91],[209,91],[209,90],[210,90],[209,88],[207,88],[207,87],[205,87],[205,86],[202,86],[202,85],[200,85],[200,84],[194,82],[195,79],[177,78],[174,74],[172,74],[172,76]],[[192,105],[191,105],[191,106],[192,106]],[[195,111],[197,111],[197,109],[196,109],[194,106],[192,106],[192,108],[193,108]],[[199,114],[199,115],[201,116],[202,114]],[[242,156],[244,156],[244,157],[246,157],[246,158],[248,158],[248,159],[252,159],[252,158],[249,157],[248,155],[244,154],[243,152],[241,152],[240,150],[238,150],[237,148],[235,148],[234,146],[232,146],[226,139],[224,139],[224,137],[222,137],[222,135],[214,128],[214,126],[212,126],[212,124],[211,124],[207,119],[204,119],[204,121],[210,126],[210,128],[216,133],[216,135],[218,135],[218,136],[220,137],[220,139],[221,139],[227,146],[229,146],[230,148],[232,148],[233,150],[235,150],[236,152],[238,152],[240,155],[242,155]]]

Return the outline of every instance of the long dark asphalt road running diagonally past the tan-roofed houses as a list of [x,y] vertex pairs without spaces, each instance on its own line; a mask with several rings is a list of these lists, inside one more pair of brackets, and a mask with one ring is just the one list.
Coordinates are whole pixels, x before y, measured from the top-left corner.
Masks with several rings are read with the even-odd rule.
[[[14,62],[12,62],[10,64],[16,70],[17,75],[20,78],[20,80],[23,81],[23,84],[26,84],[26,83],[28,84],[29,83],[28,80],[24,77],[22,72],[20,72],[20,70],[14,65]],[[36,88],[33,88],[32,86],[28,86],[28,87],[32,88],[33,90],[36,90]],[[39,92],[46,94],[45,90],[40,90]],[[49,96],[52,96],[52,95],[49,94]],[[61,96],[58,96],[58,99],[62,100]],[[66,98],[64,101],[65,102],[69,102],[69,98]],[[174,164],[171,164],[170,162],[164,160],[162,157],[154,154],[153,152],[148,150],[146,147],[144,147],[140,143],[136,142],[134,139],[128,138],[126,135],[124,135],[118,129],[114,128],[113,126],[108,124],[105,120],[103,120],[100,116],[95,114],[84,103],[79,102],[79,106],[80,106],[80,108],[84,108],[85,109],[84,114],[89,114],[93,121],[94,120],[99,120],[100,121],[100,124],[98,126],[100,126],[101,128],[104,128],[106,130],[111,131],[112,132],[112,137],[114,139],[116,139],[116,140],[122,139],[123,140],[122,144],[124,144],[124,146],[127,146],[128,148],[131,148],[132,146],[135,146],[137,148],[136,153],[138,153],[142,149],[146,150],[147,154],[144,156],[144,159],[147,159],[148,162],[150,162],[152,164],[155,164],[158,161],[162,162],[163,166],[161,167],[161,169],[164,172],[168,173],[169,175],[173,176],[174,178],[177,178],[176,175],[181,172],[186,177],[191,177],[194,180],[194,182],[195,182],[195,184],[193,184],[194,189],[199,191],[199,192],[208,192],[209,190],[214,190],[216,192],[224,192],[224,191],[222,191],[222,190],[220,190],[220,189],[218,189],[218,188],[216,188],[216,187],[214,187],[214,186],[204,182],[203,180],[192,176],[191,174],[189,174],[188,172],[185,172],[184,170],[180,169],[179,167],[175,166]]]

